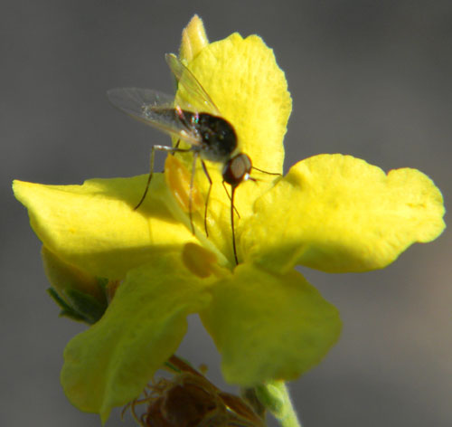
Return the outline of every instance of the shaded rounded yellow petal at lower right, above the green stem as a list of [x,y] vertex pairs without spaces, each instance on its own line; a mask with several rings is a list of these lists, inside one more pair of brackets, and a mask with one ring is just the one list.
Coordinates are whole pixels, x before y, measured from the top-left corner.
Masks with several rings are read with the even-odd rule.
[[240,264],[212,287],[202,322],[222,356],[229,383],[293,379],[317,364],[339,337],[336,308],[297,271],[268,273]]

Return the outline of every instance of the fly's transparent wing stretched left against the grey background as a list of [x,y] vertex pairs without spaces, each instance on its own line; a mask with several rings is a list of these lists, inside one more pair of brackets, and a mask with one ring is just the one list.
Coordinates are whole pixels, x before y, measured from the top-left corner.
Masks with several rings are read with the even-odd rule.
[[200,138],[189,126],[184,110],[174,109],[174,97],[157,90],[116,88],[107,91],[108,100],[134,119],[157,128],[172,137],[199,145]]

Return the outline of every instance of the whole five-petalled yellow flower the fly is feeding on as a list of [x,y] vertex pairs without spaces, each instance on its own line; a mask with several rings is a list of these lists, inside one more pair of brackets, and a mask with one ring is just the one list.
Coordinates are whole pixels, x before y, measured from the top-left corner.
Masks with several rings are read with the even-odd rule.
[[[181,55],[233,124],[240,151],[259,170],[281,173],[291,100],[273,52],[256,35],[207,43],[195,17]],[[190,156],[168,157],[137,210],[146,175],[83,185],[14,183],[46,251],[90,277],[122,280],[99,322],[66,347],[61,372],[71,402],[104,421],[177,350],[191,313],[202,318],[231,384],[296,378],[334,345],[341,322],[294,267],[381,269],[445,227],[442,196],[428,176],[409,168],[385,174],[357,158],[320,155],[284,177],[253,169],[257,181],[238,186],[236,266],[221,165],[207,163],[208,236],[208,183],[199,165],[191,230]]]

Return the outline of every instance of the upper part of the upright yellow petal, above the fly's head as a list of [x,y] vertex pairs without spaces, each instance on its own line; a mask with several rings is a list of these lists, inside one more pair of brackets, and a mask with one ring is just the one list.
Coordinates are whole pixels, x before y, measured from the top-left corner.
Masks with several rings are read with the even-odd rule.
[[233,33],[202,49],[189,68],[235,128],[253,165],[280,172],[292,100],[273,51],[257,35]]

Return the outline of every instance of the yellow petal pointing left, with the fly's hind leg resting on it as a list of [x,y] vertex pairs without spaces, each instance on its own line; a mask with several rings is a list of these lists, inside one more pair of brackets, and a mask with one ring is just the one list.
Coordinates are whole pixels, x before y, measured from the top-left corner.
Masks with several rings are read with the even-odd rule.
[[33,231],[61,260],[94,276],[121,279],[155,256],[196,242],[165,207],[162,175],[153,176],[145,202],[134,210],[145,187],[146,176],[83,185],[15,181],[14,195],[27,207]]

